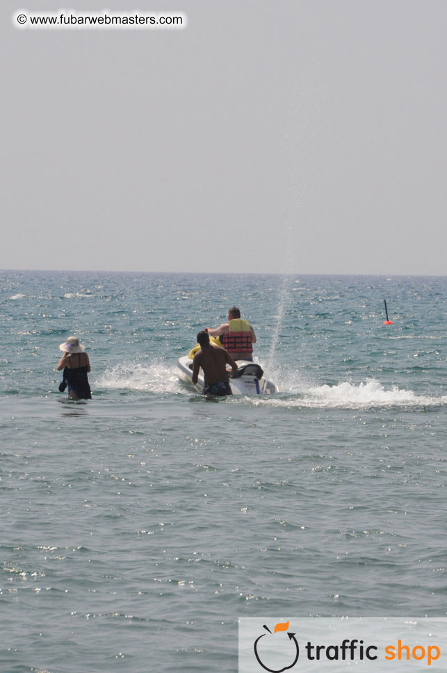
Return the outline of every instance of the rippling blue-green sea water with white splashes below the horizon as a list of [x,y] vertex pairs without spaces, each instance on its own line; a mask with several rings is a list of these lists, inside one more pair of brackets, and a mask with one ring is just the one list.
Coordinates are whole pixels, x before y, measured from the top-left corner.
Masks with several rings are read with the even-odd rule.
[[[236,672],[238,617],[446,615],[446,277],[0,277],[2,673]],[[234,304],[277,396],[178,379]]]

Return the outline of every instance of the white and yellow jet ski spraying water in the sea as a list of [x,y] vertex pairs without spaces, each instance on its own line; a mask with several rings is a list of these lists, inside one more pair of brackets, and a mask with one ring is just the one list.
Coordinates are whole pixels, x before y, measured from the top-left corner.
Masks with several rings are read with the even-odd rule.
[[[220,341],[213,336],[210,341],[220,346]],[[192,384],[193,379],[193,357],[200,346],[192,348],[188,355],[179,357],[177,363],[180,369],[179,377],[186,383]],[[233,377],[229,379],[231,392],[234,395],[271,395],[277,393],[277,386],[264,377],[263,368],[257,362],[250,360],[236,360],[238,371],[234,372]],[[204,373],[202,368],[199,371],[199,378],[195,388],[202,392],[204,388]]]

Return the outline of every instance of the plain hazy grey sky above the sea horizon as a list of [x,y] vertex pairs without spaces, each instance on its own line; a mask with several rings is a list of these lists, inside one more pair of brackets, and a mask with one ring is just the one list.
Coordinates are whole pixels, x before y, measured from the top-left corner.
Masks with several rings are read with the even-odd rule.
[[23,2],[0,268],[446,275],[445,0],[68,3],[188,20],[138,31],[19,29],[67,6]]

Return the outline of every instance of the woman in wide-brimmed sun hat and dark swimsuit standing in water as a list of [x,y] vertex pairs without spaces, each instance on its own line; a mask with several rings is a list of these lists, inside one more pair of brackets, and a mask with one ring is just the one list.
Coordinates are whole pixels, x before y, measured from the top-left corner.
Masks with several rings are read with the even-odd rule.
[[[77,336],[69,336],[67,341],[60,343],[59,350],[63,350],[63,356],[58,362],[58,371],[63,369],[64,381],[68,384],[68,396],[72,400],[91,400],[92,392],[87,374],[90,371],[90,360],[86,347],[79,343]],[[59,389],[65,390],[60,384]]]

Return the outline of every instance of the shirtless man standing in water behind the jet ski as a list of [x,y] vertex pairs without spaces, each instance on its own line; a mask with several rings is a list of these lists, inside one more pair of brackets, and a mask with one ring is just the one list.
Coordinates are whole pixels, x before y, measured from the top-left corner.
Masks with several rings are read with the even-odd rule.
[[231,366],[231,376],[238,369],[234,359],[225,348],[211,346],[206,332],[197,334],[197,343],[200,344],[200,350],[197,350],[193,359],[193,384],[197,383],[202,367],[205,379],[204,395],[232,395],[226,364]]

